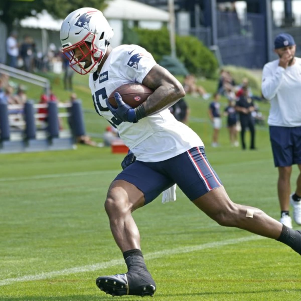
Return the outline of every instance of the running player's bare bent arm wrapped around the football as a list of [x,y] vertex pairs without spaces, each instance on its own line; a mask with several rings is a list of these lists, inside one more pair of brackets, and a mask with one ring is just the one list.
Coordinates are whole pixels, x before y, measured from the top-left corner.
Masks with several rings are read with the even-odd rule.
[[175,104],[185,96],[181,83],[165,68],[155,65],[145,76],[142,84],[154,90],[141,106],[144,107],[145,115],[163,110]]

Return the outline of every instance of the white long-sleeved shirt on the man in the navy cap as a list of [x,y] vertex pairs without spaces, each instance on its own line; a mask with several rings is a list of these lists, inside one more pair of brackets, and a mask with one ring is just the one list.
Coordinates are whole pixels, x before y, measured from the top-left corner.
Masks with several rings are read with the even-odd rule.
[[271,102],[268,125],[301,126],[301,58],[286,69],[278,65],[269,62],[262,71],[262,95]]

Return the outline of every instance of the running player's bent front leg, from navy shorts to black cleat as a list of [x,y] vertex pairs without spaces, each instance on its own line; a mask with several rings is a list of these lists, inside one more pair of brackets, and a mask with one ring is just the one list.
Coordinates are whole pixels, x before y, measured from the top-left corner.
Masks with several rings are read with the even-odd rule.
[[98,277],[96,284],[104,292],[113,296],[154,294],[156,284],[146,268],[140,248],[140,234],[132,212],[151,202],[172,185],[170,179],[139,161],[123,170],[110,185],[105,209],[113,237],[123,252],[128,271]]

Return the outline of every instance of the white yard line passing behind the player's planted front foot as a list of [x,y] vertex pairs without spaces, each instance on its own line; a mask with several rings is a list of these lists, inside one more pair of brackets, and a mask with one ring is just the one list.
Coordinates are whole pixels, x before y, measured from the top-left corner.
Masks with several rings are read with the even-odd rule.
[[[235,239],[215,241],[212,243],[201,244],[201,245],[197,245],[197,246],[178,247],[175,249],[148,253],[148,254],[144,255],[144,258],[145,259],[156,259],[156,258],[161,258],[161,257],[168,257],[173,254],[189,253],[189,252],[200,251],[200,250],[209,249],[209,248],[222,247],[222,246],[226,246],[226,245],[230,245],[230,244],[238,244],[238,243],[242,243],[242,242],[246,242],[246,241],[250,241],[250,240],[258,240],[261,238],[263,238],[263,237],[258,236],[258,235],[252,235],[252,236],[235,238]],[[69,274],[82,273],[82,272],[93,272],[93,271],[101,270],[104,268],[110,268],[115,265],[124,265],[124,260],[123,259],[114,259],[114,260],[110,260],[107,262],[96,263],[93,265],[84,265],[84,266],[79,266],[79,267],[75,267],[75,268],[67,268],[67,269],[60,270],[60,271],[45,272],[45,273],[41,273],[41,274],[37,274],[37,275],[25,275],[25,276],[17,277],[17,278],[7,278],[7,279],[0,280],[0,286],[13,284],[15,282],[44,280],[44,279],[52,278],[54,276],[69,275]]]

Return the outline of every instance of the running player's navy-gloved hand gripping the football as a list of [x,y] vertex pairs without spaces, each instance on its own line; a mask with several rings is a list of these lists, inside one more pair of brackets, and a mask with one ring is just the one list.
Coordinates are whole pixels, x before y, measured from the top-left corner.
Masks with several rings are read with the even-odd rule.
[[121,121],[132,123],[138,122],[135,109],[126,104],[118,92],[115,92],[114,97],[117,103],[116,109],[109,103],[108,98],[106,99],[107,107],[112,112],[114,117]]

